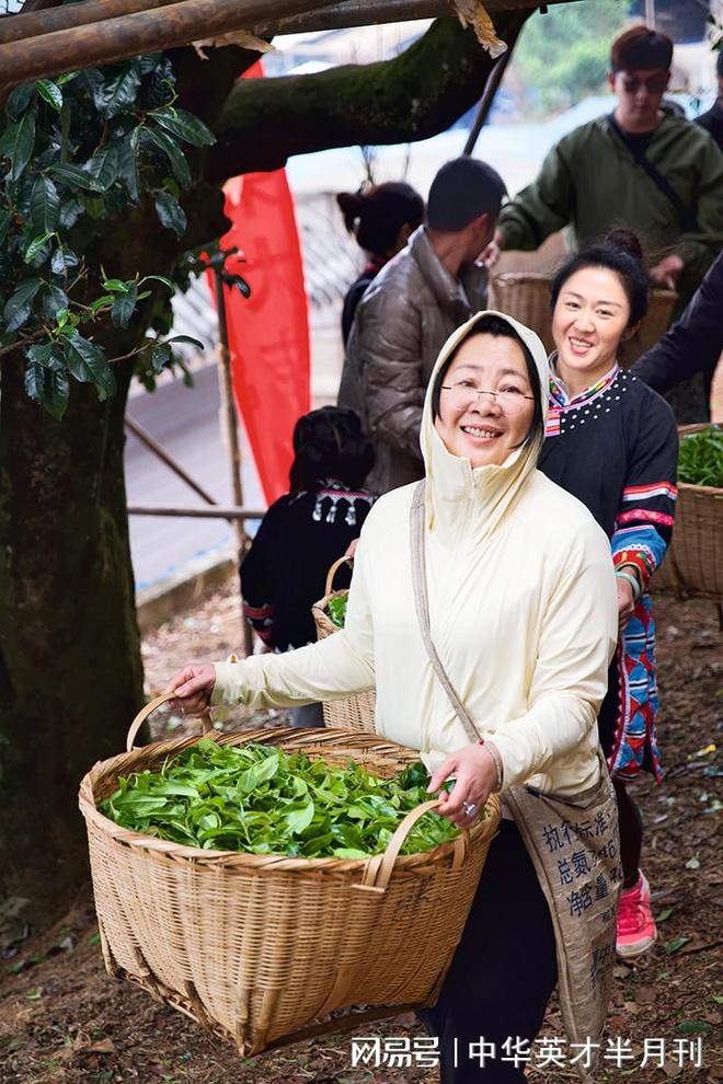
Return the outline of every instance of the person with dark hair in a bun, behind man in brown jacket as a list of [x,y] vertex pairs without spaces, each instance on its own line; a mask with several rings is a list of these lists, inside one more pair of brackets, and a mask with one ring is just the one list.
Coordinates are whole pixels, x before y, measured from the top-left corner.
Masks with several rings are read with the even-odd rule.
[[344,298],[342,336],[346,346],[356,307],[367,286],[424,221],[424,199],[411,184],[386,181],[366,192],[341,192],[336,203],[346,229],[367,254],[364,270]]

